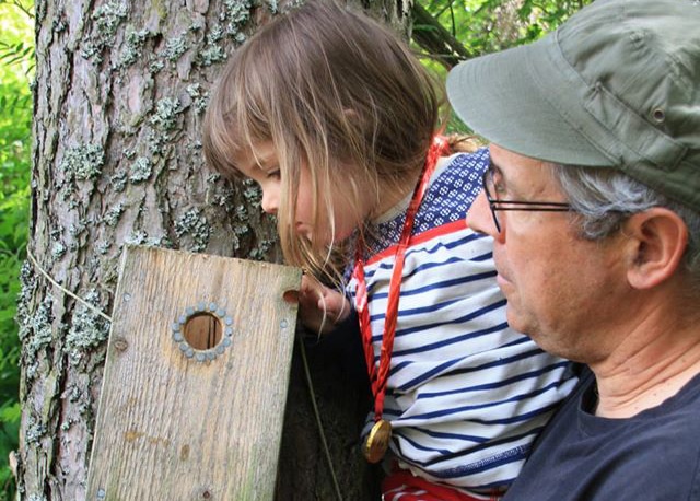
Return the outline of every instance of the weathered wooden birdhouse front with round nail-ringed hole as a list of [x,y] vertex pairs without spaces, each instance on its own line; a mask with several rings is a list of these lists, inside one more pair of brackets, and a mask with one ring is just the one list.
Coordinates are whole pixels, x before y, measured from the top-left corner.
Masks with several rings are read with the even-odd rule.
[[88,499],[273,498],[296,318],[282,294],[300,281],[280,265],[125,252]]

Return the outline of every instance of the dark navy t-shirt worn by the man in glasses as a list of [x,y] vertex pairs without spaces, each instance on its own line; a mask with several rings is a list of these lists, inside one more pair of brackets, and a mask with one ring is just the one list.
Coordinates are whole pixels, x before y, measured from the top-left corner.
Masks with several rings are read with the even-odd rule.
[[504,500],[700,500],[700,375],[631,418],[596,417],[595,405],[586,370]]

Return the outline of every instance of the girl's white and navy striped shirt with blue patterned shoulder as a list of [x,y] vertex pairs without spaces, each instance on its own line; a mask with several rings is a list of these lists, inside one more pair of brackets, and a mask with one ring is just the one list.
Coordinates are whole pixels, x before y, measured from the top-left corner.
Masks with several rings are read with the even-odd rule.
[[[487,165],[485,149],[441,162],[432,176],[406,250],[384,406],[400,467],[476,492],[513,481],[575,384],[568,362],[509,328],[492,240],[466,225]],[[399,206],[366,237],[375,363],[408,200]]]

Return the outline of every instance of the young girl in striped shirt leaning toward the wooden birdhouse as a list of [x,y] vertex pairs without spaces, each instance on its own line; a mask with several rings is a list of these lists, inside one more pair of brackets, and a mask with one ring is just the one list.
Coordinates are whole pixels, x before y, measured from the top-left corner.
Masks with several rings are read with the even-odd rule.
[[345,284],[306,277],[300,318],[331,331],[357,311],[386,500],[498,498],[574,384],[505,323],[491,241],[465,223],[488,152],[451,155],[439,106],[388,28],[312,1],[235,51],[205,124],[214,168],[262,188],[287,261]]

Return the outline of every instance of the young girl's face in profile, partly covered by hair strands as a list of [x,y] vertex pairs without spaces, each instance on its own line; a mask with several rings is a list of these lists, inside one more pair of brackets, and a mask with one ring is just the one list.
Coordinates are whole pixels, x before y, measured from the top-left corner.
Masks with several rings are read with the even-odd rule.
[[[247,156],[235,159],[236,168],[246,177],[255,180],[262,189],[262,210],[268,214],[277,214],[280,210],[280,201],[284,185],[281,182],[280,165],[277,150],[271,141],[262,141],[255,144],[255,151],[247,153]],[[320,193],[329,193],[335,208],[335,234],[328,222],[328,210],[324,200],[317,200],[317,210],[320,212],[320,224],[323,228],[314,225],[314,198],[315,193],[312,186],[311,172],[307,165],[302,164],[299,177],[299,193],[296,197],[296,210],[294,231],[298,235],[310,241],[320,238],[320,244],[331,244],[339,242],[352,234],[365,213],[362,213],[363,203],[351,203],[347,193],[341,187],[335,187],[330,191],[325,187],[319,187]],[[359,207],[360,206],[360,207]],[[290,222],[291,223],[291,222]]]

